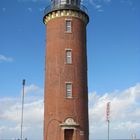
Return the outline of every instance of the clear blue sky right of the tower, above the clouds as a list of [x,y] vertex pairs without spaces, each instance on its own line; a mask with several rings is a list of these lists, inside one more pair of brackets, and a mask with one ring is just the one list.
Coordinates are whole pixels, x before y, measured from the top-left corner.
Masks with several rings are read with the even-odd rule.
[[124,89],[140,81],[140,2],[113,0],[89,6],[89,91]]

